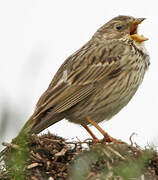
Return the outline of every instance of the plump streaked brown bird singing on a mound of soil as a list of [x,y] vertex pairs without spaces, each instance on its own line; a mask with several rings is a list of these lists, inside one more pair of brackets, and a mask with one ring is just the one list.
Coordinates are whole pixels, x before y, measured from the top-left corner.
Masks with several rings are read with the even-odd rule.
[[93,125],[106,142],[115,141],[98,123],[110,120],[136,93],[150,65],[149,53],[138,34],[145,18],[119,15],[100,27],[56,72],[24,125],[30,134],[67,119],[83,126],[98,140]]

